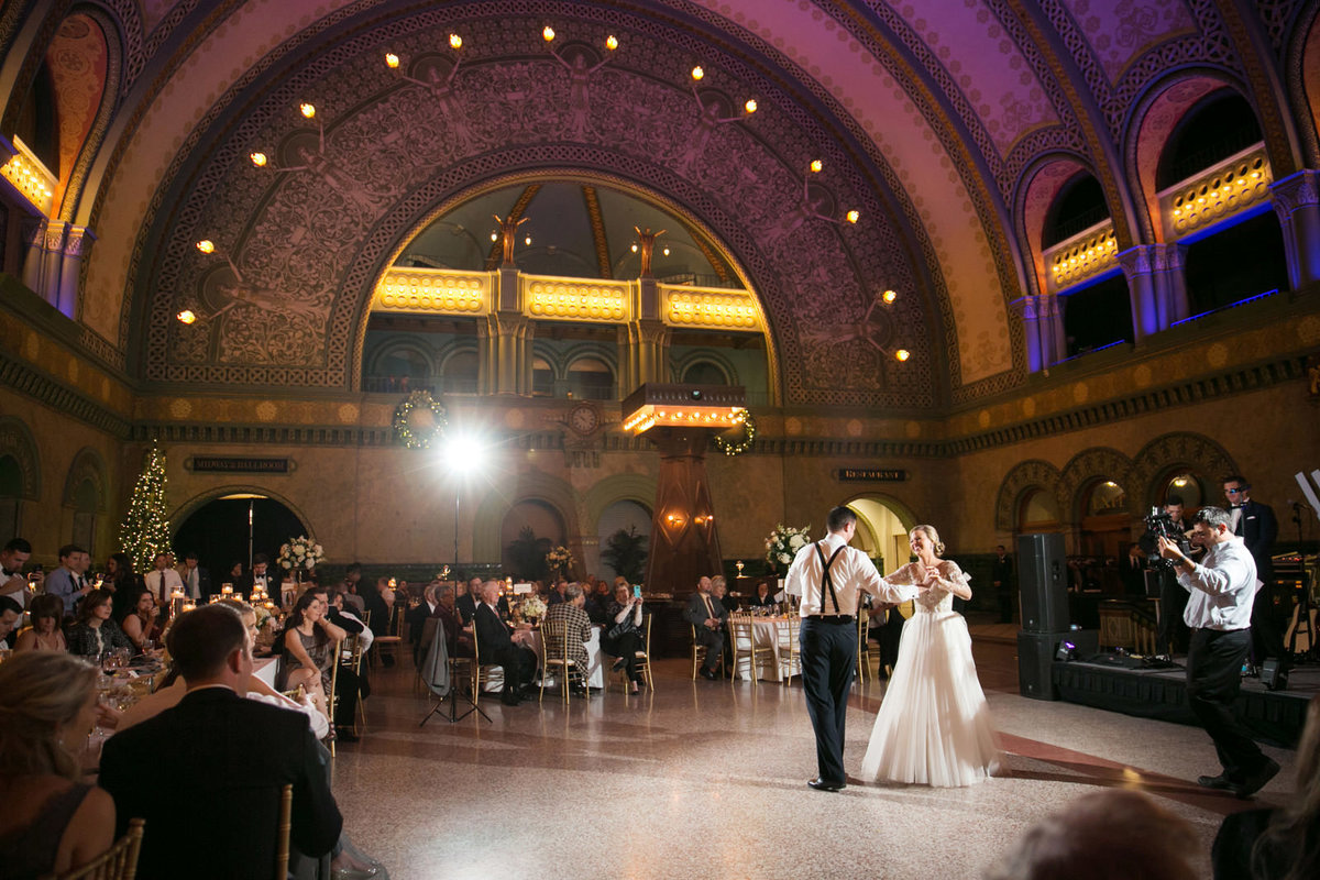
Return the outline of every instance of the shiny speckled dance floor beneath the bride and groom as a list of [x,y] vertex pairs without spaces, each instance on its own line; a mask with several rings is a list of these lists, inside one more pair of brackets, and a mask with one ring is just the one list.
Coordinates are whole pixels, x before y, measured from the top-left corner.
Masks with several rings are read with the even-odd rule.
[[[690,679],[656,664],[655,694],[568,707],[546,691],[492,723],[417,723],[432,701],[409,660],[372,672],[367,728],[342,744],[334,792],[346,830],[393,880],[630,877],[977,877],[1036,819],[1104,788],[1147,792],[1209,848],[1250,802],[1196,786],[1217,773],[1195,727],[1018,695],[1015,648],[974,646],[1008,776],[968,789],[807,788],[814,745],[801,686]],[[845,763],[855,772],[884,683],[854,687]],[[1295,755],[1255,803],[1292,792]]]

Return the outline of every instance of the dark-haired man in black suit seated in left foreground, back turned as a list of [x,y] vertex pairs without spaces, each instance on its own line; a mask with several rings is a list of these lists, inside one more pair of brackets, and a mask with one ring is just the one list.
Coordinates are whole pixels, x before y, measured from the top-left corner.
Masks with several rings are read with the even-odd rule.
[[112,736],[100,760],[116,834],[133,817],[150,829],[137,876],[265,880],[285,784],[293,785],[293,847],[312,858],[330,852],[343,818],[308,719],[239,695],[252,673],[242,617],[226,603],[202,606],[177,619],[168,646],[187,693]]

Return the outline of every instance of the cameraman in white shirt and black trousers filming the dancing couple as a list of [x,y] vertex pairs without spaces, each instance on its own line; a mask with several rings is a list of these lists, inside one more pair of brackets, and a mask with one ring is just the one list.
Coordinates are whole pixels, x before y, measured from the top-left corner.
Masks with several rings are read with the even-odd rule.
[[1251,600],[1261,582],[1251,553],[1233,534],[1228,511],[1203,507],[1192,522],[1192,541],[1206,550],[1201,562],[1189,559],[1164,537],[1159,540],[1159,553],[1173,561],[1177,582],[1191,594],[1184,612],[1192,629],[1187,702],[1214,740],[1224,765],[1218,776],[1201,776],[1196,781],[1246,798],[1279,772],[1279,765],[1261,752],[1233,714],[1242,687],[1242,662],[1251,646]]

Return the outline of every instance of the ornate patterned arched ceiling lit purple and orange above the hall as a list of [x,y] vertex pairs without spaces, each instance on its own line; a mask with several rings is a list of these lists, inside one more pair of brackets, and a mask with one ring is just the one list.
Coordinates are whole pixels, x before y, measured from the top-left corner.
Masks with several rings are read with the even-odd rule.
[[[957,404],[1024,376],[1011,303],[1035,269],[1012,206],[1035,170],[1092,170],[1122,245],[1139,243],[1131,115],[1185,67],[1242,83],[1278,175],[1298,162],[1257,46],[1280,50],[1302,0],[103,5],[125,73],[78,206],[98,235],[79,318],[156,383],[351,387],[371,284],[408,237],[467,191],[562,169],[640,187],[727,248],[762,296],[787,404]],[[545,24],[565,58],[605,59],[606,34],[620,47],[574,82]],[[383,63],[447,71],[450,32],[465,44],[447,86]],[[0,86],[21,80],[7,63]],[[702,117],[746,98],[747,120]],[[323,149],[300,100],[318,106]],[[255,169],[253,149],[309,169]],[[832,222],[851,207],[859,223]],[[887,286],[904,294],[887,315],[913,351],[902,367],[855,331]],[[235,299],[228,321],[169,321]]]

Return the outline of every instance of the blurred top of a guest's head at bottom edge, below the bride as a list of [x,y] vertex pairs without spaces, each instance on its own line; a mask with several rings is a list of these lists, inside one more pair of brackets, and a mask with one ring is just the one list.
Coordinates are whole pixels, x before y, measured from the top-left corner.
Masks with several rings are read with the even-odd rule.
[[1193,880],[1196,834],[1138,792],[1085,794],[1018,840],[985,880]]

